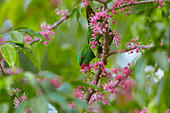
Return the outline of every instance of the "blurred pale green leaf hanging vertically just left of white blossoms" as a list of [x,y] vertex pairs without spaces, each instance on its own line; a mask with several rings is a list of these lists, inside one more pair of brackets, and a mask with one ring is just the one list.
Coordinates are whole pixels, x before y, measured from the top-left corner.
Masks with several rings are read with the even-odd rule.
[[135,71],[135,80],[139,87],[139,89],[143,89],[145,86],[145,66],[146,66],[146,59],[144,57],[140,57],[136,64],[136,71]]

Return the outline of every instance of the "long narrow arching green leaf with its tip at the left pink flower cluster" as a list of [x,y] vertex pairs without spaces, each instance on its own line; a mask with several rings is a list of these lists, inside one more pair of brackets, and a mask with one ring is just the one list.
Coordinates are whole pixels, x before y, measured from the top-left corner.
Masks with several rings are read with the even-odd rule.
[[19,27],[19,28],[16,28],[16,29],[14,29],[14,30],[15,30],[15,31],[24,32],[24,33],[30,35],[30,36],[33,37],[33,38],[34,38],[34,36],[36,36],[36,37],[38,37],[38,38],[41,38],[41,39],[44,40],[44,41],[48,41],[44,35],[42,35],[42,34],[39,33],[39,32],[35,32],[35,31],[32,30],[32,29],[28,29],[28,28],[25,28],[25,27]]

